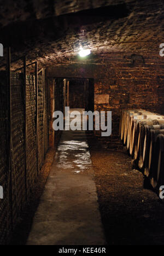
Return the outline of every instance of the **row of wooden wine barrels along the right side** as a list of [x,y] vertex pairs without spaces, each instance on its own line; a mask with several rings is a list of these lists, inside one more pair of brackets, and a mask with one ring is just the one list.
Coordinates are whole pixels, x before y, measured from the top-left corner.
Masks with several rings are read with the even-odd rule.
[[164,116],[143,109],[123,110],[119,136],[133,163],[159,191],[164,185]]

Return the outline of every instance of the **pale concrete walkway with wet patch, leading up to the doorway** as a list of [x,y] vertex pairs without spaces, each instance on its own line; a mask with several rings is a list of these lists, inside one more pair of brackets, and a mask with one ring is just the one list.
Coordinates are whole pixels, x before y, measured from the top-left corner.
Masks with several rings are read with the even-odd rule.
[[85,132],[63,131],[27,245],[104,245]]

